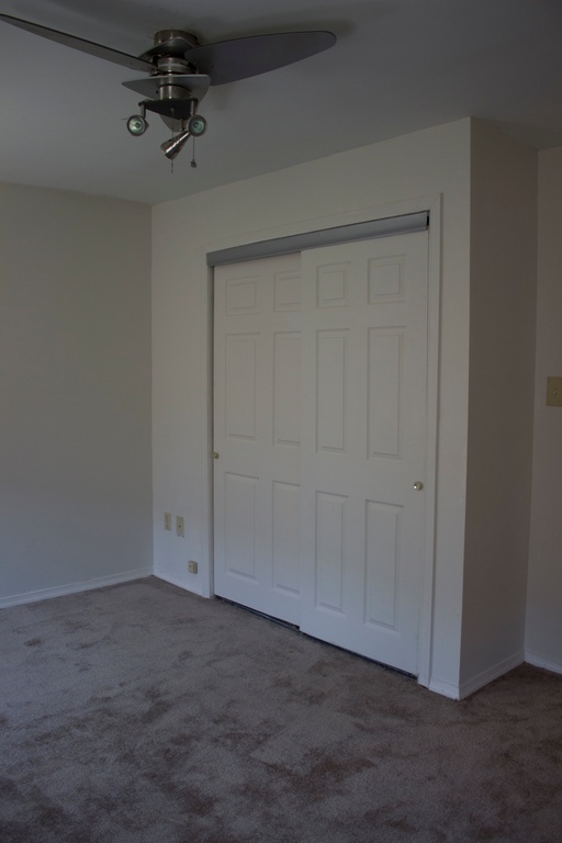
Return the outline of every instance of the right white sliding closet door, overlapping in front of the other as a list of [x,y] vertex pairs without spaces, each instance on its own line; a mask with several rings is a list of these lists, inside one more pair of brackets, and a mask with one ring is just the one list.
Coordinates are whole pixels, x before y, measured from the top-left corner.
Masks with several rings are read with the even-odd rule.
[[417,673],[427,234],[303,252],[301,628]]

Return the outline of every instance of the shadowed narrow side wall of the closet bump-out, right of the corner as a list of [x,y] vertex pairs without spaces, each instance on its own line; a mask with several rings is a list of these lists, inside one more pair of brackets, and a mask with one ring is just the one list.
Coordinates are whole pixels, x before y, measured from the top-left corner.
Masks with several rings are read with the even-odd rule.
[[462,694],[524,661],[536,277],[537,153],[473,121]]

